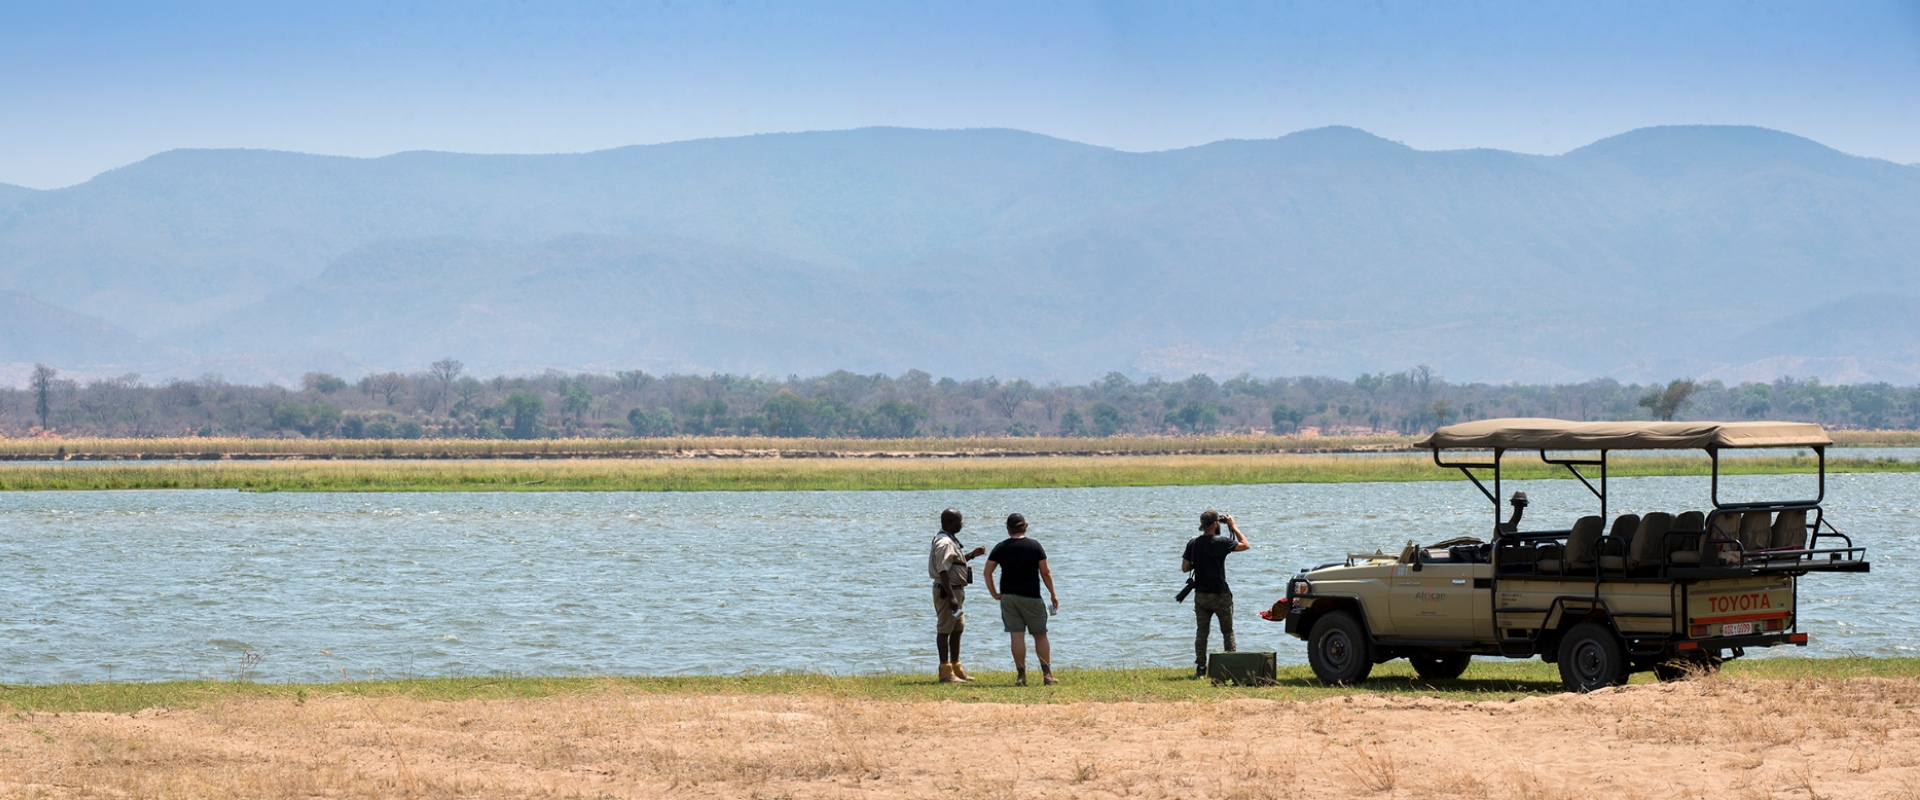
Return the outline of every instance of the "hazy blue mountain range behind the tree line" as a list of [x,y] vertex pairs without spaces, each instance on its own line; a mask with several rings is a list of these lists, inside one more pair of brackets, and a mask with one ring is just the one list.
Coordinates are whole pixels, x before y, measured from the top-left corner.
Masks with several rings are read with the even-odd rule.
[[0,184],[0,382],[833,368],[1920,382],[1920,167],[1747,127],[1127,153],[862,129],[578,155],[179,150]]

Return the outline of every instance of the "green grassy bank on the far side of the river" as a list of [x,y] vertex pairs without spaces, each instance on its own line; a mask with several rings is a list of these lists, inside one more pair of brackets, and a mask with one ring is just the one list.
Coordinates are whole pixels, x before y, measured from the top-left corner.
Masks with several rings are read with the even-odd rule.
[[[1811,472],[1811,459],[1728,459],[1722,474]],[[1699,476],[1692,457],[1619,457],[1611,476]],[[1830,459],[1830,472],[1920,472],[1914,462]],[[1509,480],[1567,478],[1511,459]],[[1463,480],[1427,457],[1213,455],[1035,459],[578,459],[578,460],[273,460],[205,464],[0,464],[0,491],[897,491],[1064,489]]]

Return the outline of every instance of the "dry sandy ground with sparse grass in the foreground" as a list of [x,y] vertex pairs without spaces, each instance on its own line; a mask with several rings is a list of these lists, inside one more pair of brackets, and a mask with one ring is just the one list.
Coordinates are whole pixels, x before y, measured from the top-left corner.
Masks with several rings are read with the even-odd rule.
[[232,700],[12,714],[0,794],[1920,798],[1916,704],[1916,679],[1513,702]]

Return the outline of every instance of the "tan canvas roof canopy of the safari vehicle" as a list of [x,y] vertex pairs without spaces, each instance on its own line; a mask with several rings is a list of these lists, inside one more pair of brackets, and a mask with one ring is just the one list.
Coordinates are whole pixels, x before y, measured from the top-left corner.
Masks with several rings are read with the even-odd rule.
[[1812,422],[1569,422],[1505,418],[1444,426],[1413,447],[1542,451],[1670,451],[1705,447],[1826,447]]

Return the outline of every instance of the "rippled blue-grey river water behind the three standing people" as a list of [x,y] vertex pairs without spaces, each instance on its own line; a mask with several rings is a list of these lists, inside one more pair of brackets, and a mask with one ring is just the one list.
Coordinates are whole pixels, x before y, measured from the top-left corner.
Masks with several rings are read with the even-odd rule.
[[[1807,497],[1809,476],[1734,478]],[[1868,576],[1803,581],[1795,654],[1920,654],[1910,570],[1920,476],[1828,480],[1828,516]],[[1530,520],[1592,512],[1578,482],[1509,482]],[[1705,478],[1620,478],[1615,512],[1699,508]],[[862,493],[0,495],[0,683],[342,675],[737,675],[929,671],[925,553],[958,506],[968,547],[1021,512],[1058,576],[1062,666],[1185,666],[1181,547],[1204,508],[1242,520],[1229,558],[1242,650],[1304,662],[1254,616],[1288,574],[1348,551],[1480,533],[1459,482]],[[1534,526],[1530,526],[1534,528]],[[966,660],[1006,664],[983,587]],[[1217,635],[1215,635],[1217,647]]]

